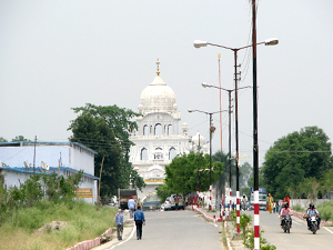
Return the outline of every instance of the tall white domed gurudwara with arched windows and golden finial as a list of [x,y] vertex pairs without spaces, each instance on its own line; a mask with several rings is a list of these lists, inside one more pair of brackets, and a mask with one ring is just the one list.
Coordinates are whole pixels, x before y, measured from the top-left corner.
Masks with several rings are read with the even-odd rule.
[[144,202],[157,200],[155,188],[163,184],[165,166],[180,153],[189,153],[192,138],[184,122],[180,130],[181,114],[173,90],[160,77],[159,60],[157,77],[145,87],[140,97],[137,118],[138,131],[131,134],[134,143],[130,150],[133,168],[144,179],[145,188],[138,193]]

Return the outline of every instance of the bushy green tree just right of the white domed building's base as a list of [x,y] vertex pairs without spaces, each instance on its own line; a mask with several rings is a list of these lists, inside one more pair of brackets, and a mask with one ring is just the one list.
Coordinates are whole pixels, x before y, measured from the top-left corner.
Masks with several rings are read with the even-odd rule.
[[[172,193],[189,193],[198,187],[198,162],[199,162],[199,190],[206,191],[210,187],[210,156],[180,154],[173,158],[169,166],[165,166],[165,183]],[[212,183],[223,173],[223,163],[212,162]]]

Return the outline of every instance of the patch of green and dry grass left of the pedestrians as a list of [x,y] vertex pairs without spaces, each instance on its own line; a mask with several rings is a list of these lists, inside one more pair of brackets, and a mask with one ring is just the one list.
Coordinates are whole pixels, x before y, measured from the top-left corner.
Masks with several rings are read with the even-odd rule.
[[[1,249],[13,250],[63,250],[78,242],[101,237],[109,228],[115,227],[117,209],[97,207],[83,201],[57,203],[43,200],[39,206],[14,211],[0,227]],[[50,227],[36,232],[46,223],[64,221],[70,224],[59,230]]]

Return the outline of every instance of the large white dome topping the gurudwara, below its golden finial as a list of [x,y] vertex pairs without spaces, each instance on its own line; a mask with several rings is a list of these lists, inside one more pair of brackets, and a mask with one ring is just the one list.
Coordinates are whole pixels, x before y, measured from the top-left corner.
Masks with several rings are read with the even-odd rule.
[[160,76],[157,76],[142,91],[140,97],[139,112],[142,114],[151,112],[176,111],[175,94],[173,90],[165,84]]

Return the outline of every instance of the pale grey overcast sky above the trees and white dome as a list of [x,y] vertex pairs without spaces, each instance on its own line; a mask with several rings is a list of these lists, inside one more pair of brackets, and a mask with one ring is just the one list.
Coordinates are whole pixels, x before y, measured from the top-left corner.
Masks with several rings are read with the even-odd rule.
[[[260,0],[258,42],[259,149],[307,126],[333,138],[332,0]],[[155,77],[175,92],[181,123],[209,138],[209,116],[219,110],[219,90],[233,89],[233,52],[195,49],[194,40],[225,47],[251,44],[249,0],[0,1],[0,137],[68,141],[71,110],[85,103],[138,111],[142,90]],[[240,87],[252,86],[252,54],[239,51]],[[222,93],[228,109],[228,93]],[[220,117],[213,152],[220,149]],[[234,119],[234,117],[232,118]],[[223,114],[228,151],[228,114]],[[252,89],[239,93],[240,156],[252,164]],[[234,122],[232,124],[234,151]],[[332,142],[332,140],[331,140]],[[1,159],[0,159],[1,160]]]

